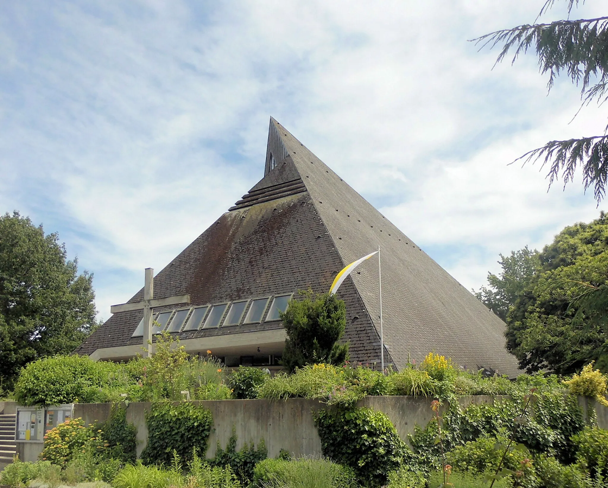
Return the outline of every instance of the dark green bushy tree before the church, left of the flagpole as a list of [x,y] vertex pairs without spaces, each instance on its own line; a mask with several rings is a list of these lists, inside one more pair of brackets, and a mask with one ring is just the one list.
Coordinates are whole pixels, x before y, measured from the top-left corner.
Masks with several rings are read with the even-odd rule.
[[303,300],[291,300],[281,320],[287,331],[283,365],[289,371],[306,364],[341,364],[348,359],[348,344],[337,344],[346,327],[344,301],[335,294],[313,296],[300,292]]

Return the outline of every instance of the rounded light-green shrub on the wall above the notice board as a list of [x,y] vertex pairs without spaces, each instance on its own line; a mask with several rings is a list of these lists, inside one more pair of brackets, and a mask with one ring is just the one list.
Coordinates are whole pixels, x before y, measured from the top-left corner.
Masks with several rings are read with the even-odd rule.
[[[106,370],[119,365],[104,365]],[[100,365],[88,356],[53,356],[32,361],[21,370],[15,384],[15,399],[21,405],[60,405],[78,402],[92,387],[107,379]]]

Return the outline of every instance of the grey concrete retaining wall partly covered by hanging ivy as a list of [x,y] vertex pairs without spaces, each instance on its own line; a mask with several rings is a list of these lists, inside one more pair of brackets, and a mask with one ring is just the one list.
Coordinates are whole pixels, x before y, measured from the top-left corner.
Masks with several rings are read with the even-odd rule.
[[[462,407],[471,404],[500,402],[505,397],[467,396],[458,401]],[[325,405],[316,400],[290,398],[286,401],[270,400],[218,400],[193,402],[209,408],[213,415],[213,430],[209,438],[207,457],[212,458],[219,442],[226,447],[234,432],[237,435],[237,449],[245,442],[255,442],[257,446],[264,439],[268,456],[276,456],[281,449],[292,455],[315,455],[321,453],[321,442],[314,425],[313,413]],[[580,399],[581,407],[588,416],[589,408],[596,411],[599,427],[608,429],[608,408],[593,400]],[[150,403],[130,403],[126,408],[126,419],[137,427],[137,455],[139,456],[148,440],[145,413]],[[384,412],[395,425],[399,436],[407,441],[415,425],[426,425],[433,416],[430,399],[413,396],[368,396],[362,399],[359,407],[370,407]],[[89,424],[103,422],[108,418],[111,404],[76,404],[74,416],[81,417]],[[0,413],[16,412],[15,402],[0,402]],[[43,444],[37,442],[18,442],[19,458],[23,461],[36,461]]]

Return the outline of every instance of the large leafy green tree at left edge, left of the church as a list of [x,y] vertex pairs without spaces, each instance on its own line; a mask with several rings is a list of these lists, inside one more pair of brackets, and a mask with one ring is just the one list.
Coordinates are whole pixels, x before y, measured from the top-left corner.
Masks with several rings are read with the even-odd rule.
[[93,276],[66,260],[57,234],[19,212],[0,216],[0,387],[34,359],[70,353],[95,322]]

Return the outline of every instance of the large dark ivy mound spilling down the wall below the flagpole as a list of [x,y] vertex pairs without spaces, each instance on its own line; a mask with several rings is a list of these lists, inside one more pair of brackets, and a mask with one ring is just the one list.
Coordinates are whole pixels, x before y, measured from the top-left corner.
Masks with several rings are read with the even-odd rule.
[[371,408],[319,410],[315,422],[323,455],[351,467],[364,486],[385,484],[408,450],[389,418]]

